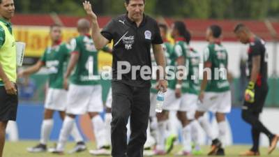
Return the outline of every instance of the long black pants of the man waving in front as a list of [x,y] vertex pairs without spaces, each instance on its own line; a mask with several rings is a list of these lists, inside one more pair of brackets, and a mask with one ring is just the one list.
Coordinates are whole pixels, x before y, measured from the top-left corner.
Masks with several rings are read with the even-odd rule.
[[[112,156],[142,157],[149,121],[150,88],[112,82]],[[130,141],[127,144],[128,118]]]

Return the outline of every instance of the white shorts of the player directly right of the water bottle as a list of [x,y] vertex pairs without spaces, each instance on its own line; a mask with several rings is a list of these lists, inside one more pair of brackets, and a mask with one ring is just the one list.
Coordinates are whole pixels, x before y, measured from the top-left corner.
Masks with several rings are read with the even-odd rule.
[[163,103],[163,110],[178,110],[181,98],[176,98],[173,89],[167,89],[165,92],[165,100]]

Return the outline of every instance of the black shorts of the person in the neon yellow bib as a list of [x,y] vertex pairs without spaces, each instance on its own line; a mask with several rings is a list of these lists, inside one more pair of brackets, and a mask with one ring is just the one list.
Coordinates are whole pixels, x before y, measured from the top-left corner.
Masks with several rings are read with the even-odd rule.
[[5,87],[0,86],[0,121],[15,121],[17,104],[17,95],[8,95]]

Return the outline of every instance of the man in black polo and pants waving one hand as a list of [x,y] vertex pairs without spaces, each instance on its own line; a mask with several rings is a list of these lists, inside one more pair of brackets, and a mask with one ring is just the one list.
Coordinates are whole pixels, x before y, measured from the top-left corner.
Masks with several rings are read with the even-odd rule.
[[[102,48],[114,40],[112,156],[142,157],[149,121],[151,45],[158,66],[165,70],[165,57],[160,45],[163,40],[160,37],[158,24],[156,20],[144,15],[144,0],[126,0],[126,15],[120,15],[111,20],[101,32],[91,4],[89,1],[85,1],[83,4],[92,21],[92,38],[96,47]],[[120,67],[122,63],[127,63],[132,71],[122,73],[123,67]],[[150,69],[149,77],[142,77],[140,71],[135,70],[136,67],[148,67]],[[163,75],[160,75],[157,87],[166,91],[167,81],[163,79],[165,75],[163,70]],[[130,117],[131,135],[127,145],[126,124],[128,123],[128,117]]]

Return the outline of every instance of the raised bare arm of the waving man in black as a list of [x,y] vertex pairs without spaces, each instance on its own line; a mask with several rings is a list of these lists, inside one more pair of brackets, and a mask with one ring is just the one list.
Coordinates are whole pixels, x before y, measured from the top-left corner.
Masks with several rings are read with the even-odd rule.
[[110,43],[110,41],[103,37],[100,33],[100,27],[97,21],[97,16],[95,13],[93,13],[91,3],[89,1],[84,1],[83,6],[84,10],[86,11],[87,15],[89,15],[92,22],[91,36],[96,46],[96,49],[101,50],[103,49],[103,47],[105,47],[105,45],[107,45],[107,43]]

